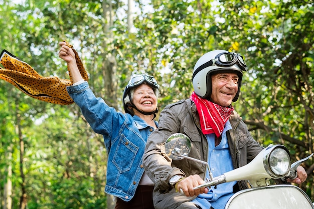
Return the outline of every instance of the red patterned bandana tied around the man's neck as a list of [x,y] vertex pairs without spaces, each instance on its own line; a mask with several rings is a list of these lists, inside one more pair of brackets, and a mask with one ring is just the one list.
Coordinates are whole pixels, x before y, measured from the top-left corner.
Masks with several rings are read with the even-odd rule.
[[192,93],[190,99],[194,101],[199,113],[202,132],[204,134],[215,133],[217,137],[220,137],[234,108],[223,107],[202,99],[195,92]]

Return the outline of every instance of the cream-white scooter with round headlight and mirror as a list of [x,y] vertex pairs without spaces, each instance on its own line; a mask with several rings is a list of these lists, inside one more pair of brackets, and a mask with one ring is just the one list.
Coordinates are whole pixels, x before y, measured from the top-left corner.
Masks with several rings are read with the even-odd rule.
[[285,146],[269,145],[247,165],[213,177],[207,162],[188,156],[191,140],[185,134],[171,135],[166,141],[165,148],[173,160],[186,158],[206,164],[210,178],[194,189],[248,180],[251,188],[236,192],[227,202],[225,209],[314,209],[310,198],[299,187],[291,184],[271,185],[270,182],[270,179],[296,178],[297,166],[313,154],[291,164],[290,153]]

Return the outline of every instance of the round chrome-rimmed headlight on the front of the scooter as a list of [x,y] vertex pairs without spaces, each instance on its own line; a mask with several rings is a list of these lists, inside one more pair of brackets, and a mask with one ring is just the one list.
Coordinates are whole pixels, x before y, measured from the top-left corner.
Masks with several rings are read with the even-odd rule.
[[284,177],[290,170],[289,150],[283,145],[267,147],[264,154],[264,166],[267,173],[273,178]]

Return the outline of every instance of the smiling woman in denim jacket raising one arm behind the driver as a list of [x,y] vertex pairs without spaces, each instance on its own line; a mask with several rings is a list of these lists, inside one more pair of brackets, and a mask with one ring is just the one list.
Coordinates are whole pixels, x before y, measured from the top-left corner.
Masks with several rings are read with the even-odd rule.
[[153,208],[153,182],[142,166],[142,155],[154,121],[159,85],[149,75],[133,76],[123,93],[125,114],[96,98],[83,80],[72,48],[60,42],[59,57],[67,62],[73,85],[67,91],[92,127],[103,135],[108,152],[105,192],[118,198],[115,208]]

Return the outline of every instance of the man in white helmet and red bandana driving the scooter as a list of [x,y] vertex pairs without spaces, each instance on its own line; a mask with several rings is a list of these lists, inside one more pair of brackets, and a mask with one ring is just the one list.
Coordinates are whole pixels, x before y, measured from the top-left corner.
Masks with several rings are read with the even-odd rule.
[[[236,191],[248,187],[246,181],[233,181],[210,190],[194,189],[209,178],[206,166],[189,159],[172,161],[165,153],[167,138],[184,133],[191,139],[189,156],[208,162],[213,175],[218,176],[246,165],[263,149],[232,107],[239,97],[243,71],[246,64],[242,56],[224,50],[208,52],[194,67],[191,97],[161,112],[160,126],[149,136],[143,155],[145,171],[155,182],[156,209],[220,209]],[[297,174],[293,182],[305,181],[302,167]]]

